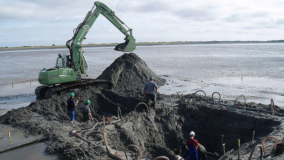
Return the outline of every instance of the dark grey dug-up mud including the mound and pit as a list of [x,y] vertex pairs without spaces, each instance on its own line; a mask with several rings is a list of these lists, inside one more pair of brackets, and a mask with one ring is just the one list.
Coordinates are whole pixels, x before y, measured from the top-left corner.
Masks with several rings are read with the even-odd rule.
[[[261,144],[262,139],[267,136],[276,136],[282,141],[284,117],[236,109],[231,106],[233,101],[222,100],[220,103],[229,105],[224,107],[212,105],[208,102],[209,99],[204,101],[199,96],[193,101],[193,94],[183,95],[180,102],[178,95],[158,93],[157,100],[165,102],[165,106],[159,103],[155,109],[147,112],[143,105],[139,105],[134,114],[134,107],[145,102],[141,88],[149,76],[154,76],[159,85],[164,83],[137,55],[124,54],[98,77],[113,81],[113,89],[92,89],[75,93],[75,99],[80,100],[78,105],[83,105],[86,99],[91,101],[94,122],[82,122],[82,115],[76,111],[75,123],[70,124],[66,111],[68,94],[8,111],[0,117],[0,122],[21,129],[27,137],[47,137],[46,152],[70,160],[111,159],[106,155],[103,143],[98,146],[87,143],[71,135],[70,131],[94,126],[97,122],[102,122],[103,115],[110,116],[111,120],[117,119],[117,107],[121,109],[122,121],[107,123],[105,127],[100,126],[95,130],[105,132],[110,149],[118,151],[122,157],[125,157],[124,147],[134,144],[140,148],[140,159],[158,156],[175,159],[174,149],[182,149],[182,155],[185,153],[184,144],[190,131],[194,131],[194,138],[212,153],[221,153],[221,135],[224,135],[225,150],[235,150],[228,156],[233,156],[232,159],[237,159],[237,139],[241,142],[241,159],[248,159],[253,147]],[[269,105],[260,103],[249,103],[247,107],[271,110]],[[142,112],[143,109],[146,112]],[[275,111],[284,113],[280,106],[275,106]],[[255,137],[250,146],[253,131]],[[86,132],[81,132],[80,135],[86,137]],[[90,140],[100,141],[102,136],[93,134]],[[267,154],[271,152],[273,143],[272,139],[265,142]],[[253,155],[253,159],[257,159],[258,155],[259,150]],[[128,156],[135,157],[135,149],[130,149]],[[284,159],[284,156],[277,155],[272,159]]]

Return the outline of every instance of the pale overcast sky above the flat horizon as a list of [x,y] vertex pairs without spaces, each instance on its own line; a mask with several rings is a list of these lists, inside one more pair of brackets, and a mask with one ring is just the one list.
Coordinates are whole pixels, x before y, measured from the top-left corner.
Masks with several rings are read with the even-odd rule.
[[[284,39],[283,0],[101,0],[133,29],[136,42]],[[0,47],[65,45],[91,0],[0,0]],[[83,44],[122,43],[100,15]]]

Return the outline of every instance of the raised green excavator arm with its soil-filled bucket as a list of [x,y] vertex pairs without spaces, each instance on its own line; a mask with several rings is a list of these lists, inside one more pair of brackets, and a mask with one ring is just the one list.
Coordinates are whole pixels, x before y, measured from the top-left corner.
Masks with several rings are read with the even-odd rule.
[[[94,9],[94,7],[96,8]],[[104,15],[119,31],[121,31],[126,37],[124,38],[125,42],[118,44],[114,50],[131,52],[136,48],[135,39],[132,35],[132,29],[129,29],[115,14],[114,11],[109,9],[103,3],[96,1],[94,3],[91,11],[88,12],[84,21],[74,29],[74,36],[72,39],[66,42],[66,46],[70,50],[71,59],[73,60],[73,69],[76,75],[85,74],[84,70],[84,59],[82,58],[82,45],[78,44],[83,41],[86,34],[96,21],[97,17]],[[125,25],[128,30],[126,30],[122,25]],[[129,33],[128,33],[129,32]]]

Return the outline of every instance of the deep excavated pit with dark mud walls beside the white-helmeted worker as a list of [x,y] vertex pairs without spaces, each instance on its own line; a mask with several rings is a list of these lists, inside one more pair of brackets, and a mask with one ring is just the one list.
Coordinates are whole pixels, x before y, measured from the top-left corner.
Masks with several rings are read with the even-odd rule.
[[149,113],[125,115],[123,121],[115,125],[116,131],[109,134],[110,141],[116,141],[110,145],[137,145],[140,147],[142,158],[153,159],[163,155],[174,159],[175,149],[181,149],[181,155],[186,153],[184,145],[190,131],[195,132],[194,139],[203,145],[206,151],[222,155],[221,135],[224,135],[225,151],[236,151],[238,139],[241,145],[250,144],[255,131],[254,146],[280,124],[279,121],[257,114],[250,116],[238,110],[212,105],[194,106],[192,103],[182,103],[177,108],[161,105],[156,110],[151,109]]

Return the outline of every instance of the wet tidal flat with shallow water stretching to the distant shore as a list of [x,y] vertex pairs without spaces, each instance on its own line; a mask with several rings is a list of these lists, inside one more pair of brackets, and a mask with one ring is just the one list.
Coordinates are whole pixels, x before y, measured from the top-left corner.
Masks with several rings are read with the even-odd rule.
[[[98,77],[123,54],[113,48],[83,48],[90,77]],[[36,82],[38,71],[53,67],[58,53],[68,53],[68,50],[0,50],[0,108],[16,108],[35,101],[33,89],[39,85]],[[190,81],[199,86],[197,89],[210,88],[209,95],[216,90],[231,99],[239,94],[252,97],[256,102],[275,98],[276,105],[284,106],[284,43],[137,46],[134,53],[157,75]],[[33,87],[27,87],[29,81],[35,81]],[[26,93],[20,94],[17,89],[9,93],[7,88],[12,82],[23,83],[19,85],[24,86]],[[184,90],[195,92],[189,88]],[[26,101],[24,105],[17,104],[22,101]]]

